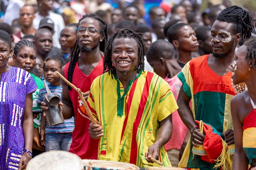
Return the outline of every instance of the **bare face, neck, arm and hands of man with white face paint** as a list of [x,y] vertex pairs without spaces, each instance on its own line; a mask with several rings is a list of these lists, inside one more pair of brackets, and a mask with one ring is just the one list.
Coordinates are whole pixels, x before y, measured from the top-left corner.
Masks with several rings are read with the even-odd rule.
[[[231,71],[231,63],[234,60],[234,52],[236,48],[236,44],[238,43],[239,39],[241,38],[241,34],[233,34],[232,32],[232,23],[226,23],[226,22],[219,22],[216,21],[215,24],[213,24],[212,33],[218,32],[219,30],[226,30],[230,32],[231,34],[231,40],[230,43],[233,41],[233,47],[231,49],[231,52],[226,55],[224,58],[216,58],[212,54],[208,57],[208,66],[210,69],[212,69],[216,74],[219,76],[223,76]],[[214,35],[214,34],[213,34]],[[228,42],[222,42],[220,38],[213,36],[213,44],[218,44],[218,46],[221,46],[222,48],[216,49],[216,53],[224,53],[227,51],[225,47],[228,47],[230,44]],[[214,51],[213,51],[214,52]],[[196,123],[193,118],[192,111],[189,107],[190,97],[184,92],[183,85],[179,91],[179,96],[177,99],[177,104],[179,106],[178,112],[182,119],[182,121],[185,123],[185,125],[188,127],[191,138],[192,138],[192,145],[199,146],[199,144],[203,144],[205,135],[202,134],[198,128],[196,128]],[[228,145],[234,143],[234,137],[233,137],[233,130],[228,129],[227,131],[223,132],[222,137],[225,137],[225,142],[228,143]]]

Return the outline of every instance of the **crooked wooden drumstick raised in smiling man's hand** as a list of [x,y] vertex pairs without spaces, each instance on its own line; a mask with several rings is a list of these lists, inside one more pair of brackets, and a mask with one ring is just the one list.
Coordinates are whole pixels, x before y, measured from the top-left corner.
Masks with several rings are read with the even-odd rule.
[[56,73],[60,76],[60,78],[62,79],[62,80],[64,80],[71,88],[73,88],[74,90],[76,90],[77,91],[77,93],[79,94],[79,96],[80,96],[80,99],[82,100],[82,104],[84,105],[84,107],[85,107],[85,110],[86,110],[86,112],[88,113],[88,115],[89,115],[89,118],[91,119],[91,122],[92,122],[92,124],[97,124],[97,122],[94,120],[94,117],[93,117],[93,115],[91,114],[91,110],[89,109],[89,107],[88,107],[88,105],[87,105],[87,103],[86,103],[86,101],[85,101],[85,98],[82,96],[82,91],[80,90],[80,88],[77,88],[75,85],[73,85],[71,82],[69,82],[65,77],[63,77],[63,75],[61,75],[58,71],[56,71]]

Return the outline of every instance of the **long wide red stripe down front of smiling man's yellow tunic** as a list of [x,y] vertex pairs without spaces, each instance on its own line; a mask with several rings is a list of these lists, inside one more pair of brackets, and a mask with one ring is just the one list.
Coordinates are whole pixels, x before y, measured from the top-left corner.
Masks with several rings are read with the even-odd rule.
[[[145,104],[147,103],[147,100],[148,100],[148,90],[150,88],[150,83],[151,83],[151,80],[152,80],[153,76],[154,76],[153,73],[151,73],[151,72],[147,73],[146,81],[145,81],[144,88],[143,88],[143,91],[142,91],[141,100],[140,100],[140,103],[139,103],[139,109],[138,109],[138,112],[137,112],[137,117],[136,117],[136,119],[134,121],[134,125],[133,125],[132,139],[131,139],[130,163],[135,164],[135,165],[137,164],[137,150],[138,150],[137,140],[136,140],[137,135],[136,134],[137,134],[137,131],[138,131],[139,123],[140,123],[141,118],[142,118],[143,111],[145,109]],[[142,145],[143,145],[143,143],[142,143]]]

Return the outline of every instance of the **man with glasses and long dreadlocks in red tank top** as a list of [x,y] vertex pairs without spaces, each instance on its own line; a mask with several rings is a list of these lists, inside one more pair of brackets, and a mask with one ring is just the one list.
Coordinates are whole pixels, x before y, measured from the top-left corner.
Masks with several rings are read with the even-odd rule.
[[[61,70],[61,74],[80,88],[88,98],[92,81],[103,73],[103,51],[108,41],[108,27],[95,14],[84,15],[77,23],[77,41],[71,54],[71,61]],[[97,159],[98,139],[88,133],[90,119],[79,94],[62,81],[62,113],[65,119],[75,118],[70,152],[82,159]],[[45,106],[45,103],[42,103]],[[42,107],[43,110],[48,109]]]

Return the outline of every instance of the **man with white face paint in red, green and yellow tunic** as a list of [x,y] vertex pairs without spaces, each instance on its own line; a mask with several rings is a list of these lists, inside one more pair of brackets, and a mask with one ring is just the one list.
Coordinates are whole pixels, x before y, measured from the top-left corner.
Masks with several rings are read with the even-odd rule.
[[[208,123],[211,128],[216,129],[213,133],[222,138],[221,145],[234,143],[233,122],[230,113],[230,100],[236,95],[231,85],[231,63],[234,60],[234,52],[240,38],[248,39],[251,36],[253,25],[249,13],[238,6],[231,6],[223,10],[217,17],[211,29],[211,45],[213,53],[203,55],[189,61],[178,74],[182,81],[177,103],[179,115],[191,133],[191,140],[185,148],[179,167],[188,170],[229,169],[226,163],[216,165],[215,160],[221,155],[214,148],[205,156],[192,153],[192,147],[204,145],[209,139],[208,132],[201,133],[195,120]],[[192,111],[189,102],[192,103]],[[228,130],[224,130],[224,122],[228,121]],[[225,142],[224,142],[225,141]],[[216,153],[219,153],[216,154]],[[213,158],[213,155],[216,156]],[[225,161],[224,161],[225,162]],[[222,162],[223,163],[223,162]]]

